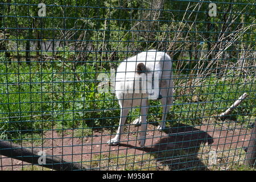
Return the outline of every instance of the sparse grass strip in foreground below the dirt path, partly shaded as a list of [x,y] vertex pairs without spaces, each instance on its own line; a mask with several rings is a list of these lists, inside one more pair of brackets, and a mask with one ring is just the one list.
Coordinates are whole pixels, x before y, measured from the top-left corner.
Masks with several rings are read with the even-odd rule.
[[[212,162],[211,152],[216,152]],[[241,148],[214,150],[201,144],[196,148],[167,150],[151,154],[94,154],[92,160],[83,162],[92,168],[111,171],[255,171],[245,166],[245,151]]]

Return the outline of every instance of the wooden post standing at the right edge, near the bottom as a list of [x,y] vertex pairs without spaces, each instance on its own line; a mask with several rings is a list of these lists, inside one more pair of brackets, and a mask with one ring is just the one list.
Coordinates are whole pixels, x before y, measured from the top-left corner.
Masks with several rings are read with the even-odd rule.
[[256,121],[253,127],[253,131],[251,133],[251,138],[249,142],[249,146],[245,156],[245,165],[250,167],[256,167]]

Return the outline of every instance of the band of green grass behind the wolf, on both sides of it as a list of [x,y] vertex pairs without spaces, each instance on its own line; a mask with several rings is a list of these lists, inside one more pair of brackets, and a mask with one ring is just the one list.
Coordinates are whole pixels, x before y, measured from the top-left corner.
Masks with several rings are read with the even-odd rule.
[[[53,128],[81,130],[80,136],[95,127],[118,125],[119,105],[114,94],[97,92],[96,78],[104,69],[96,63],[13,63],[0,64],[0,69],[1,138],[20,138]],[[175,83],[175,102],[167,126],[209,123],[245,92],[249,97],[232,112],[229,121],[247,125],[255,119],[253,76],[230,70],[221,77],[212,74],[198,79],[184,75]],[[150,101],[148,121],[158,122],[161,113],[160,102]],[[133,109],[129,121],[138,115],[139,109]]]

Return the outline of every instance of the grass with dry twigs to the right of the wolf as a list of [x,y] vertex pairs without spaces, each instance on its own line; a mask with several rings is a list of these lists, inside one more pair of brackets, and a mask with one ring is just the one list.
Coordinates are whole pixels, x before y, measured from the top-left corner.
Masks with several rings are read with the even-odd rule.
[[[249,97],[229,115],[229,119],[247,124],[255,119],[255,86],[250,76],[225,75],[205,77],[197,85],[187,84],[176,89],[175,106],[172,109],[177,122],[200,125],[224,112],[243,93]],[[250,80],[250,81],[245,81]],[[173,120],[172,120],[173,121]]]

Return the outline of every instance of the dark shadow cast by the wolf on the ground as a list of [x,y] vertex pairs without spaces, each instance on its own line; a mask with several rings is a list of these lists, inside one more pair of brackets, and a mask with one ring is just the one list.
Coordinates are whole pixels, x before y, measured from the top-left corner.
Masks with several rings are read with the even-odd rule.
[[[208,170],[202,162],[205,159],[201,159],[199,149],[201,144],[213,143],[213,138],[209,134],[184,124],[166,129],[164,133],[168,137],[159,137],[152,146],[137,148],[137,150],[151,154],[170,170]],[[119,146],[135,147],[124,143],[120,143]]]

